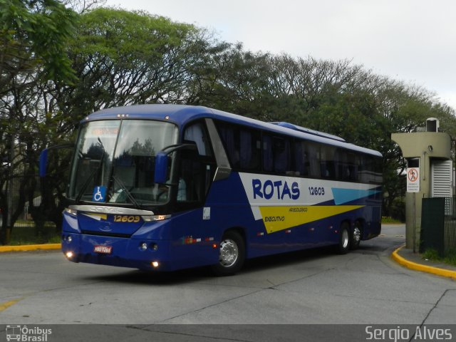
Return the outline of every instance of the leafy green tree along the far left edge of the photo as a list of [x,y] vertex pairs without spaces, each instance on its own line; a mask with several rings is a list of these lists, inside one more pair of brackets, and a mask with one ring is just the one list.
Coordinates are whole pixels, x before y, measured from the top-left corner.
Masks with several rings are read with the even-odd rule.
[[[10,229],[24,207],[27,193],[36,186],[37,150],[46,138],[38,137],[40,118],[38,85],[48,80],[74,82],[76,78],[66,54],[76,16],[54,0],[0,0],[0,136],[8,145],[0,145],[0,155],[9,156],[8,170],[0,173],[0,185],[16,177],[20,182],[18,204],[11,207],[7,187],[0,188],[0,207],[4,214],[0,243],[6,241],[6,224]],[[40,140],[43,138],[43,140]],[[42,146],[42,145],[41,145]]]

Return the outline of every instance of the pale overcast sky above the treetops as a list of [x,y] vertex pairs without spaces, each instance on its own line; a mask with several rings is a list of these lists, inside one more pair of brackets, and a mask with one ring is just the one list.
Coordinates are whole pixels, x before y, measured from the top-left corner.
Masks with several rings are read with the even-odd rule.
[[244,49],[352,61],[456,110],[455,0],[107,0],[214,31]]

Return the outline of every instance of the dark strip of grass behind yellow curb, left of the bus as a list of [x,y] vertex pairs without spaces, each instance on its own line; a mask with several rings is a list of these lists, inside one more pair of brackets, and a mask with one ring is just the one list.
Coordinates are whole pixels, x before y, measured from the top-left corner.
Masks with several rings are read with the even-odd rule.
[[8,244],[19,246],[22,244],[58,244],[61,242],[61,234],[56,232],[56,227],[46,225],[41,232],[35,227],[13,227]]

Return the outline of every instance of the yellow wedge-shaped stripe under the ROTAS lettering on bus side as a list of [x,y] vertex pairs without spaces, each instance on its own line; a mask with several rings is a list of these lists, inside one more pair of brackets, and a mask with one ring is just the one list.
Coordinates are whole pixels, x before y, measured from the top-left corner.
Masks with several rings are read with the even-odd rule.
[[309,207],[259,207],[263,217],[266,232],[274,233],[280,230],[296,227],[301,224],[326,219],[344,212],[364,207],[363,205],[321,205]]

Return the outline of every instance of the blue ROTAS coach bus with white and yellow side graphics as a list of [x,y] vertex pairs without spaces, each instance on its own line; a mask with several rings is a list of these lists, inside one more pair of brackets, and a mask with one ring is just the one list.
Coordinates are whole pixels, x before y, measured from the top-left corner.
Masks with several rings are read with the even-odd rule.
[[[41,160],[46,165],[46,151]],[[63,213],[74,262],[172,271],[380,234],[381,155],[334,135],[190,105],[81,122]]]

